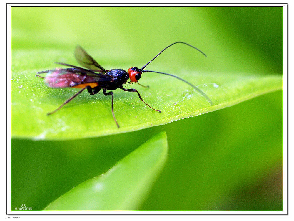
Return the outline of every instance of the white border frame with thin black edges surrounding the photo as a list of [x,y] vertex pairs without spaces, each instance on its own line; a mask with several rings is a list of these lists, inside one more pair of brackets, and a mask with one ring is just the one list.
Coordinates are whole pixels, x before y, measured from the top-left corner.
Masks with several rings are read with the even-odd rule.
[[[156,6],[282,6],[283,7],[283,211],[11,211],[11,6],[154,6],[155,4],[7,4],[7,201],[9,215],[53,215],[53,214],[219,214],[254,215],[288,214],[288,5],[287,4],[157,4]],[[39,217],[40,218],[40,217]]]

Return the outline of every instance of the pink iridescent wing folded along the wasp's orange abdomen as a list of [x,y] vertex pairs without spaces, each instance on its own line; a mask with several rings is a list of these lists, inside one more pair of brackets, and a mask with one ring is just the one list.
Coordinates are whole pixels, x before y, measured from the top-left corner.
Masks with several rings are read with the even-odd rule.
[[[86,70],[86,69],[85,69]],[[91,71],[85,71],[77,68],[66,68],[41,71],[37,74],[47,73],[45,83],[51,88],[67,88],[74,87],[80,84],[93,83],[93,82],[113,82],[115,77],[108,75],[97,74]]]

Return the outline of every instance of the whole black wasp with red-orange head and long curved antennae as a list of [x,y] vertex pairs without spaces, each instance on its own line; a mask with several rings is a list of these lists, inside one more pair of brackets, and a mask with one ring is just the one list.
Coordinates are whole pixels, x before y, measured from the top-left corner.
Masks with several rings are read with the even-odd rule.
[[[201,95],[203,95],[206,100],[210,103],[210,105],[213,105],[212,101],[208,98],[208,96],[199,88],[191,84],[190,82],[176,76],[176,75],[171,75],[163,72],[158,72],[158,71],[150,71],[150,70],[144,70],[145,67],[152,62],[158,55],[160,55],[164,50],[166,50],[168,47],[171,47],[174,44],[177,43],[182,43],[186,44],[199,52],[201,52],[205,57],[207,57],[201,50],[198,48],[192,46],[191,44],[187,44],[185,42],[175,42],[173,44],[168,45],[165,47],[161,52],[159,52],[151,61],[149,61],[146,65],[144,65],[141,69],[138,67],[131,67],[128,69],[128,72],[122,69],[111,69],[111,70],[105,70],[101,65],[99,65],[88,53],[81,47],[81,46],[76,46],[75,49],[75,57],[77,62],[82,65],[85,68],[82,67],[77,67],[74,65],[69,65],[65,63],[60,63],[60,62],[55,62],[56,64],[59,65],[65,65],[71,68],[64,68],[64,69],[55,69],[55,70],[46,70],[46,71],[41,71],[38,72],[36,77],[41,77],[39,74],[47,73],[44,78],[44,81],[47,86],[51,88],[81,88],[81,90],[78,91],[74,96],[71,98],[67,99],[59,108],[56,110],[47,113],[47,115],[55,113],[57,110],[62,108],[65,104],[69,103],[72,99],[74,99],[77,95],[79,95],[83,90],[87,89],[90,95],[97,94],[101,89],[103,89],[103,94],[105,96],[111,95],[111,111],[112,111],[112,116],[113,119],[119,128],[119,125],[116,121],[114,112],[113,112],[113,92],[107,92],[106,90],[116,90],[117,88],[120,88],[124,91],[128,92],[136,92],[140,98],[141,101],[143,101],[148,107],[150,107],[152,110],[158,111],[161,113],[160,110],[156,110],[152,108],[150,105],[148,105],[142,98],[139,92],[136,89],[126,89],[123,88],[123,85],[127,83],[127,80],[130,79],[129,83],[137,83],[138,85],[141,85],[138,83],[138,80],[140,80],[142,73],[146,72],[154,72],[154,73],[159,73],[163,75],[168,75],[175,77],[191,87],[193,87],[195,90],[197,90]],[[141,85],[143,86],[143,85]],[[143,87],[148,87],[148,86],[143,86]]]

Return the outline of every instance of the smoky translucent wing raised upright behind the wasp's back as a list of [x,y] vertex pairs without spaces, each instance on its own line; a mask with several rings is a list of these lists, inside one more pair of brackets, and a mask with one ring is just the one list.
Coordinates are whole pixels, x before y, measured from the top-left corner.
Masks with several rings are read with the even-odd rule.
[[[76,46],[74,56],[80,65],[96,72],[106,72],[88,53],[79,45]],[[98,68],[98,69],[97,69]]]

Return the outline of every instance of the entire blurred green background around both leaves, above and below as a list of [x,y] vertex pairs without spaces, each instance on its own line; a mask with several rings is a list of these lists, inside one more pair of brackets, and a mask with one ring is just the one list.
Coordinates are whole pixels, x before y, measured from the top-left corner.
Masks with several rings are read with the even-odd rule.
[[[194,51],[175,46],[152,70],[282,75],[282,24],[281,7],[12,7],[12,66],[39,66],[15,55],[42,50],[74,61],[70,52],[80,44],[96,51],[104,68],[128,69],[184,41],[207,59],[195,62]],[[52,68],[50,57],[40,62]],[[281,91],[131,133],[12,139],[11,210],[21,204],[42,210],[160,131],[167,133],[169,157],[141,210],[282,210]]]

